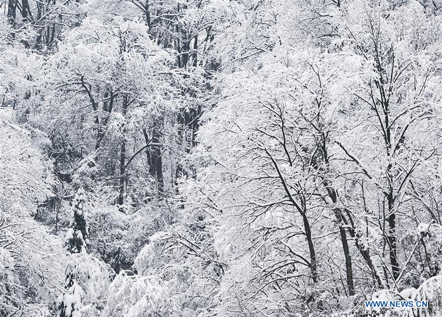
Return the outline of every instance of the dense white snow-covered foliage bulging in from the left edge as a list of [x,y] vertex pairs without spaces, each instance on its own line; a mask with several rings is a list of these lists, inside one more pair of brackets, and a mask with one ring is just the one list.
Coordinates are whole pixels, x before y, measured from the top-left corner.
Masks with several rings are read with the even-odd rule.
[[65,261],[62,241],[32,216],[52,196],[49,165],[0,108],[0,315],[49,316]]

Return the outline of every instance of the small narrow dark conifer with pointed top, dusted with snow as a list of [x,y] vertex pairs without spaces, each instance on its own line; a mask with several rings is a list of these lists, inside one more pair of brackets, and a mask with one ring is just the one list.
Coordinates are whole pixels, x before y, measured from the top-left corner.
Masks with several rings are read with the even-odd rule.
[[88,229],[85,200],[83,187],[80,187],[72,204],[72,219],[65,237],[65,247],[70,253],[86,252]]

